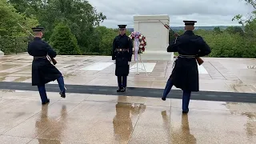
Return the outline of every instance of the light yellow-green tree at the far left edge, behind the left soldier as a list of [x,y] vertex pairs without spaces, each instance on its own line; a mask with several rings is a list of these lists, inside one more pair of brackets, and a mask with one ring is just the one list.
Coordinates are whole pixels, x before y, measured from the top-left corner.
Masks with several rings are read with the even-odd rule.
[[38,24],[38,21],[18,14],[14,6],[11,6],[6,0],[0,0],[0,49],[6,54],[26,50],[26,37],[29,34],[18,26],[18,23],[22,24],[26,30],[30,30],[32,26]]

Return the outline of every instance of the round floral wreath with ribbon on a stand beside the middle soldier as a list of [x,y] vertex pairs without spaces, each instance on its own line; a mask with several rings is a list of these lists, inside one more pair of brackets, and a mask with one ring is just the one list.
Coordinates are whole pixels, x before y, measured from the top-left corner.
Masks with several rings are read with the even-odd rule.
[[[142,34],[140,34],[138,31],[137,32],[132,32],[128,36],[132,41],[138,40],[138,54],[142,54],[145,51],[145,46],[146,46],[146,37]],[[134,42],[134,45],[135,42]],[[135,46],[134,46],[135,48]],[[134,48],[133,48],[133,54],[134,54]]]

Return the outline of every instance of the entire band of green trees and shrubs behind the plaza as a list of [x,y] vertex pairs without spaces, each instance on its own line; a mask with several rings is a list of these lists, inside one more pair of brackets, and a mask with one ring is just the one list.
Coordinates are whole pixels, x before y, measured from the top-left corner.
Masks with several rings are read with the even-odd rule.
[[[256,1],[244,1],[254,7],[250,17],[238,14],[230,19],[241,26],[194,30],[210,45],[210,57],[256,58]],[[26,51],[31,40],[26,30],[43,26],[45,41],[58,54],[110,55],[118,30],[99,26],[104,20],[106,16],[86,0],[0,0],[0,48],[6,54]]]

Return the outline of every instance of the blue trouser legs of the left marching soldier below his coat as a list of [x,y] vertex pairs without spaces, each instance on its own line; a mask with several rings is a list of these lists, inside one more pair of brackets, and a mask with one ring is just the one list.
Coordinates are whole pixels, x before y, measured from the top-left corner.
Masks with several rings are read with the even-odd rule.
[[[65,84],[64,84],[64,78],[62,76],[57,78],[57,82],[58,82],[58,86],[59,86],[59,89],[61,90],[61,92],[65,92],[66,88],[65,88]],[[39,94],[41,97],[41,101],[47,102],[46,86],[45,85],[38,86],[38,91],[39,91]]]

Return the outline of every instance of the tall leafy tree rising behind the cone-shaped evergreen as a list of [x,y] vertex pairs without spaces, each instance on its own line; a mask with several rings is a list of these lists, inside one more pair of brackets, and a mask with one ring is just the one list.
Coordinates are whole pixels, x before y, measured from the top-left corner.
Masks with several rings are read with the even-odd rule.
[[90,49],[91,42],[94,41],[94,26],[106,19],[105,15],[98,13],[86,0],[10,0],[10,3],[22,14],[38,18],[40,25],[46,28],[46,41],[50,39],[58,23],[66,23],[82,50]]

